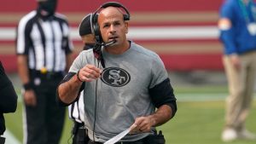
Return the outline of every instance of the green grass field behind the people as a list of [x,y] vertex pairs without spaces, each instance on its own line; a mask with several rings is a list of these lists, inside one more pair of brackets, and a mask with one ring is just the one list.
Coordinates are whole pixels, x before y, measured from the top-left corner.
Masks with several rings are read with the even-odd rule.
[[[175,88],[177,96],[177,114],[169,121],[158,127],[163,130],[166,144],[222,144],[220,135],[224,125],[224,96],[227,95],[223,86]],[[198,95],[219,96],[217,101],[186,101],[198,100]],[[183,101],[179,101],[183,100]],[[256,101],[253,110],[247,118],[248,130],[256,133]],[[22,141],[22,104],[19,103],[17,112],[6,114],[7,128]],[[72,122],[66,118],[61,144],[67,144],[70,138]],[[234,141],[229,144],[255,144],[255,141]]]

